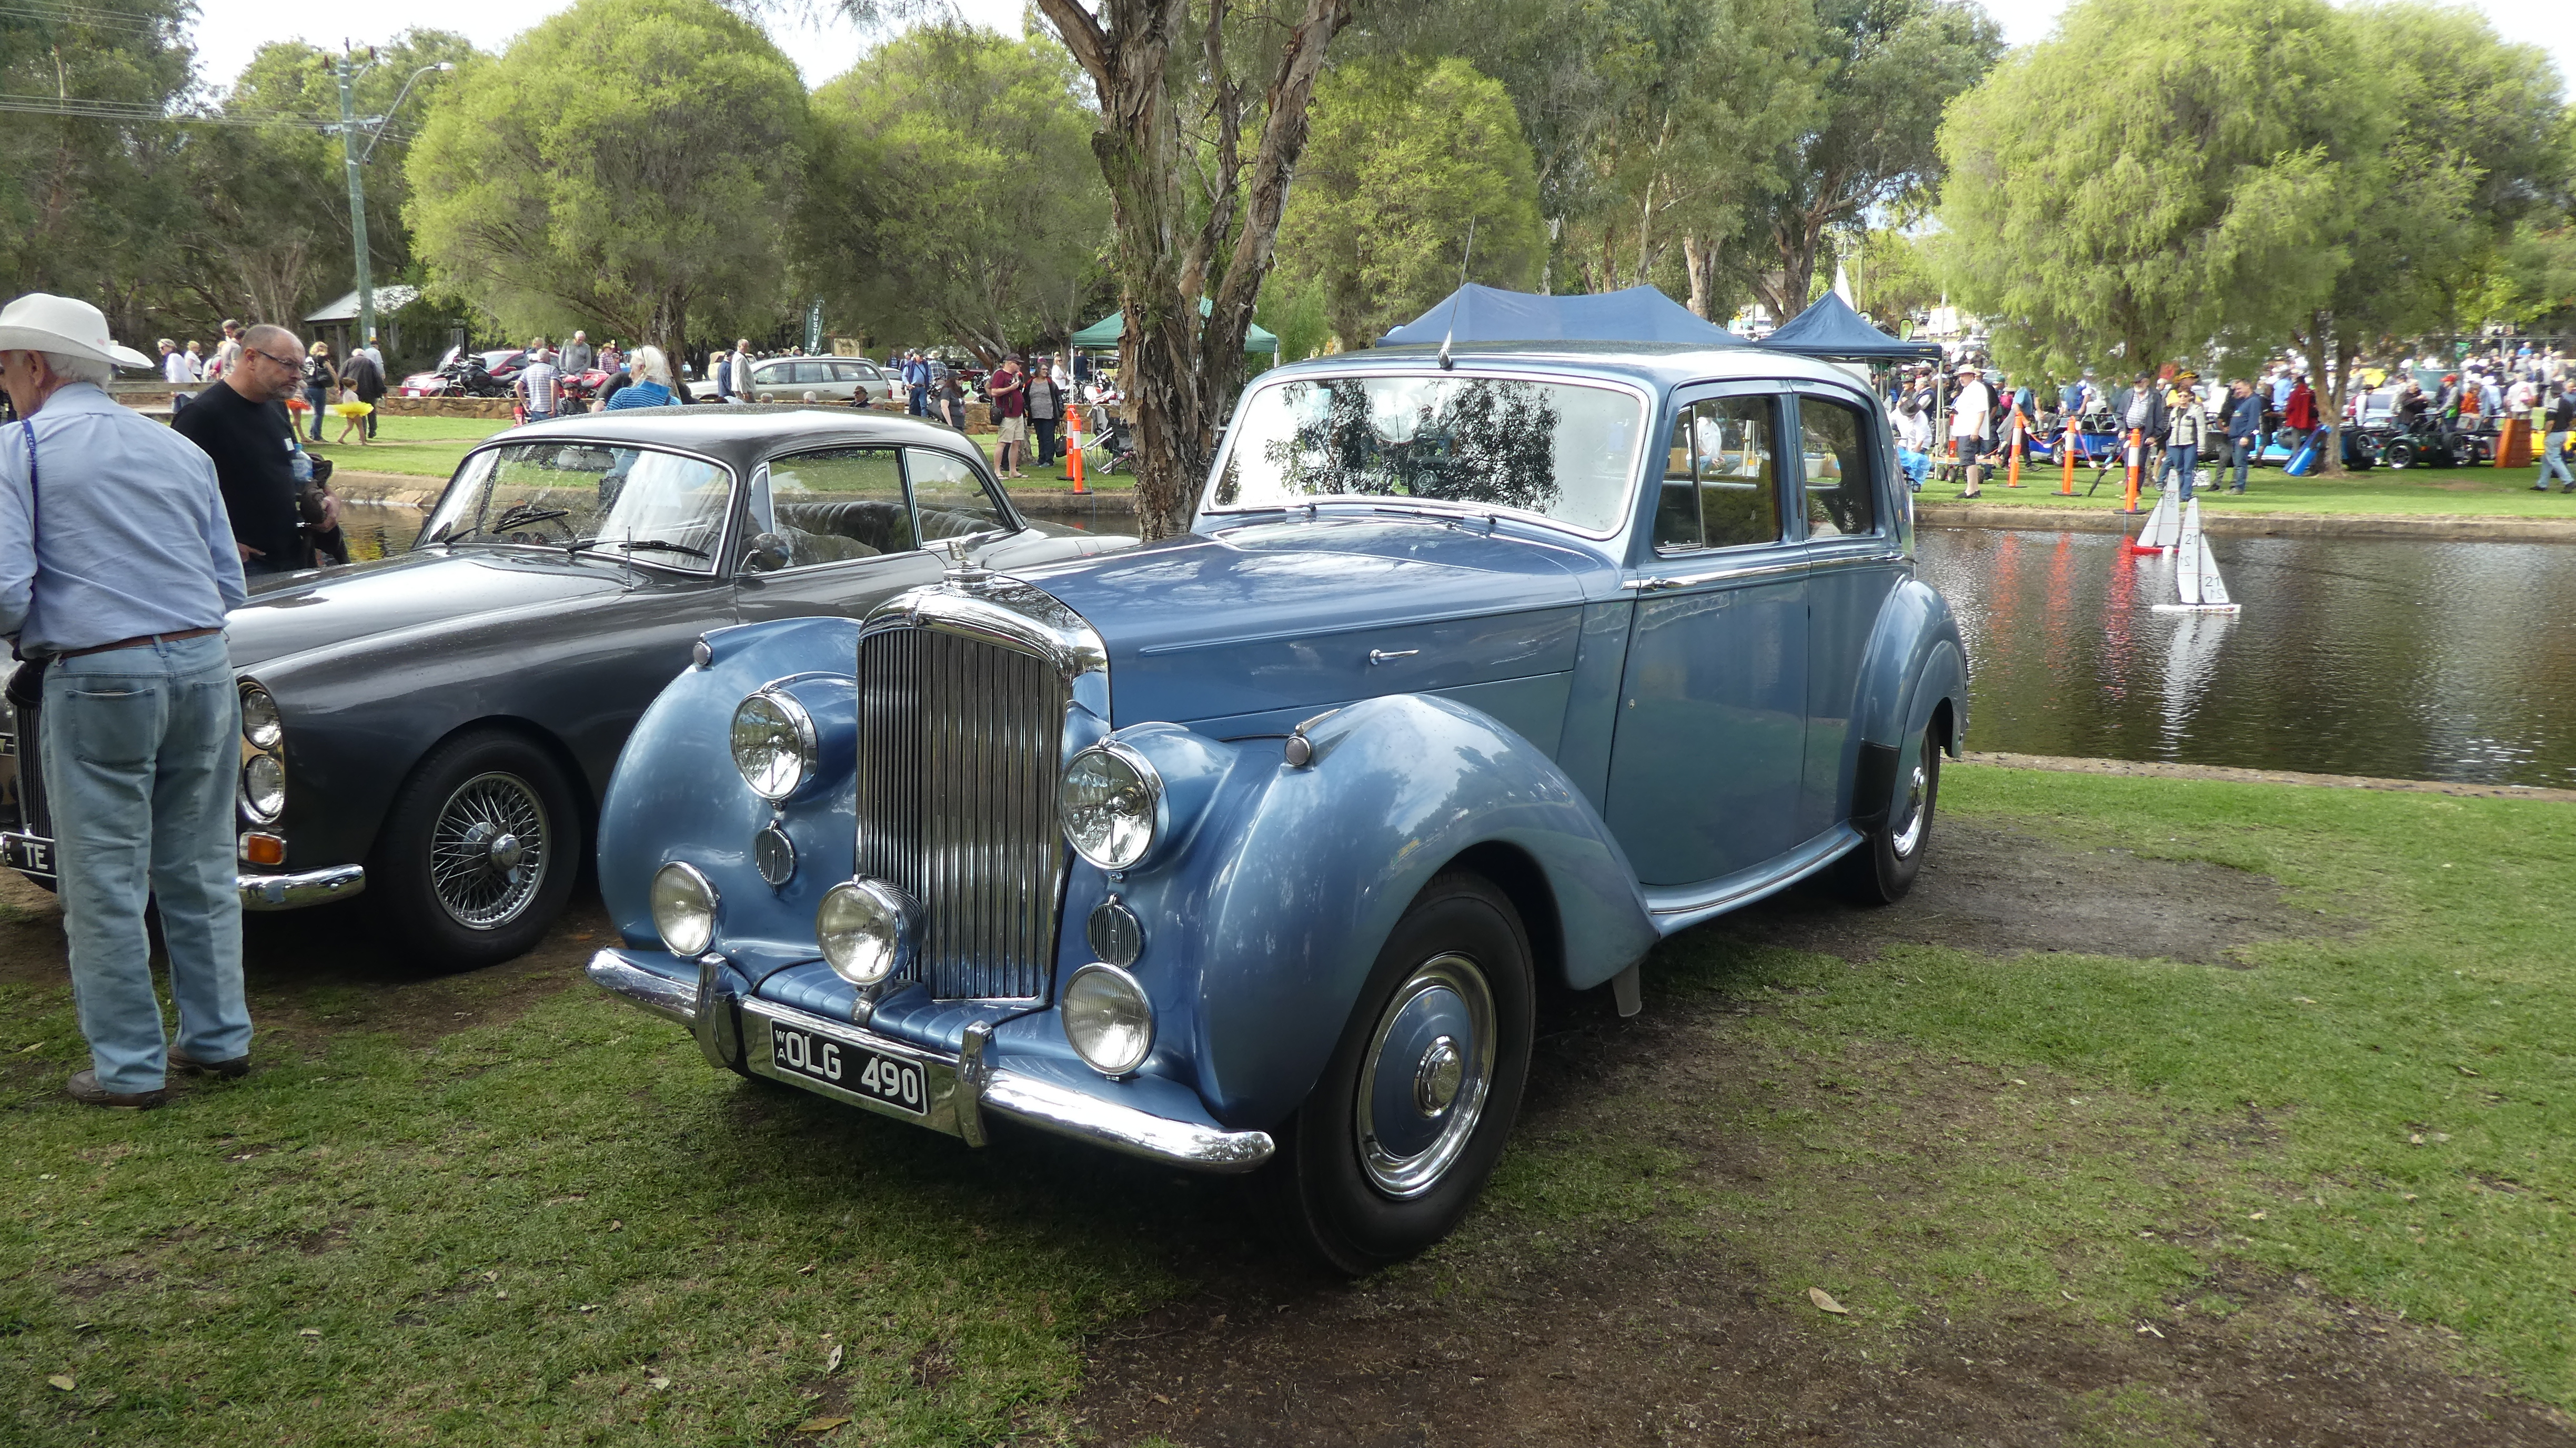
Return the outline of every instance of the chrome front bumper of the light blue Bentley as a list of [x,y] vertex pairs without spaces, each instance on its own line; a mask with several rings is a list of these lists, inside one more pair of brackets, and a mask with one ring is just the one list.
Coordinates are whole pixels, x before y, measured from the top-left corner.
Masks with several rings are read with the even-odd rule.
[[[1149,1162],[1190,1167],[1198,1172],[1249,1172],[1267,1162],[1275,1149],[1267,1131],[1218,1131],[1195,1121],[1172,1121],[1131,1105],[1084,1095],[1051,1080],[997,1067],[989,1059],[992,1031],[984,1025],[971,1028],[966,1033],[966,1049],[951,1056],[945,1051],[927,1051],[912,1041],[878,1036],[866,1025],[829,1020],[809,1010],[768,1000],[714,1000],[714,966],[716,961],[703,961],[698,966],[698,982],[680,984],[626,961],[618,951],[600,951],[590,956],[585,974],[608,995],[616,995],[618,1000],[665,1020],[688,1025],[690,1036],[698,1038],[698,1049],[706,1051],[706,1059],[719,1067],[739,1067],[757,1077],[809,1090],[842,1105],[858,1105],[881,1116],[894,1116],[896,1121],[945,1131],[948,1136],[963,1139],[969,1147],[984,1144],[987,1116],[1007,1116],[1036,1126],[1038,1131],[1054,1131],[1056,1136],[1072,1136],[1077,1141],[1108,1147],[1110,1152],[1126,1152],[1128,1157],[1144,1157]],[[909,1113],[871,1095],[848,1092],[811,1077],[775,1069],[770,1062],[773,1020],[793,1025],[796,1031],[811,1031],[827,1041],[840,1041],[850,1049],[920,1062],[922,1082],[930,1095],[927,1110]]]

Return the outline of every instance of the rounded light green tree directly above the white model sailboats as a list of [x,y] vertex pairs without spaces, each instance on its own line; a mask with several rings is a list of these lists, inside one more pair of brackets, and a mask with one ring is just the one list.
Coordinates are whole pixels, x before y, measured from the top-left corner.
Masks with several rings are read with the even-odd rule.
[[2081,0],[1942,126],[1953,294],[2058,376],[2282,335],[2388,139],[2362,57],[2324,0]]

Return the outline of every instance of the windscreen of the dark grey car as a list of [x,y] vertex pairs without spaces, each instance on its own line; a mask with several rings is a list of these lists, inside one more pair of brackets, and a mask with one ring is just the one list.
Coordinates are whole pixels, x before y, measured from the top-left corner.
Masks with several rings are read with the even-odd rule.
[[592,544],[708,572],[734,479],[721,466],[605,443],[515,443],[466,459],[415,546]]

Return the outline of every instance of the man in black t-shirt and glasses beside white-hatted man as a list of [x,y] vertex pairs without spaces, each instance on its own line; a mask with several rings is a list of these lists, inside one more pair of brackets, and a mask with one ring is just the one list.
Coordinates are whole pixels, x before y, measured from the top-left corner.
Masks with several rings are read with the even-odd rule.
[[[242,549],[242,572],[294,572],[301,567],[304,538],[296,533],[294,423],[283,397],[304,381],[304,343],[286,327],[252,327],[242,335],[242,361],[224,371],[216,386],[196,394],[170,430],[214,459],[224,487],[224,513],[232,515],[232,541]],[[340,520],[340,500],[322,495],[322,513]]]

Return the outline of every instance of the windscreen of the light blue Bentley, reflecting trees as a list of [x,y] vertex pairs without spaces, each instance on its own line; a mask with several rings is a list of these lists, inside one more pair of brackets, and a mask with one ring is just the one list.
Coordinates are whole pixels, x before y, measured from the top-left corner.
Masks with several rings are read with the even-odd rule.
[[1610,386],[1461,374],[1296,379],[1244,399],[1208,505],[1430,497],[1610,533],[1643,435],[1646,402]]

